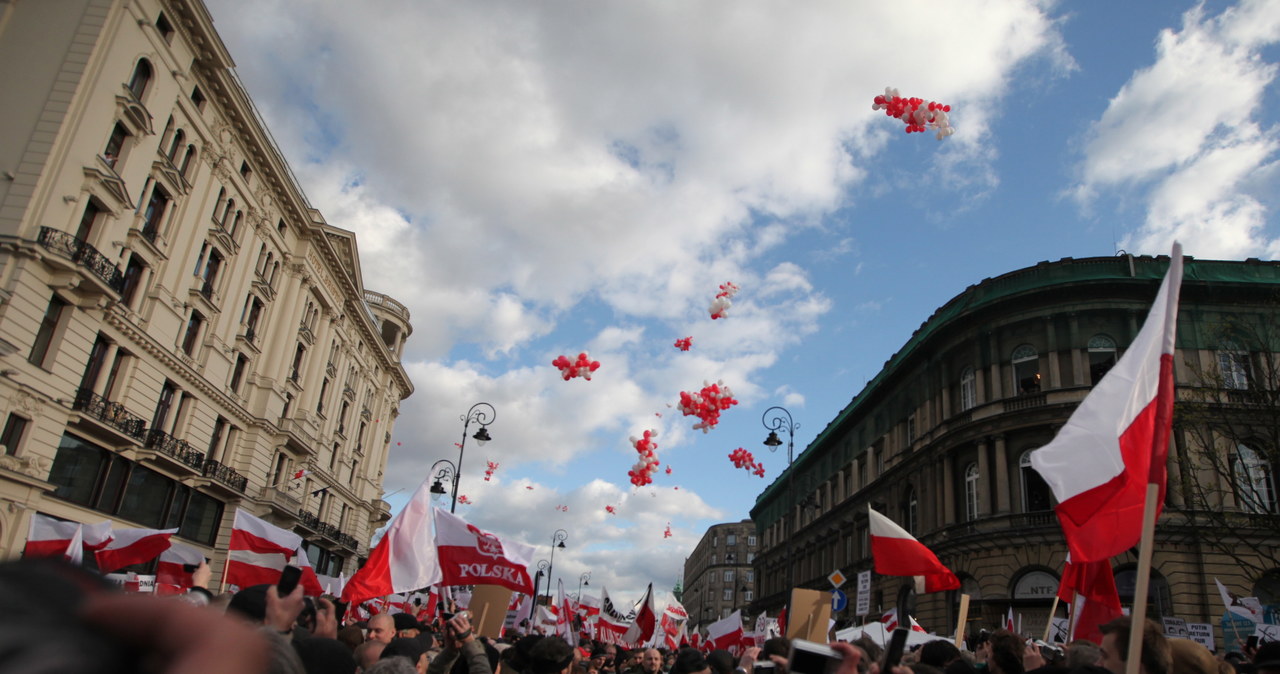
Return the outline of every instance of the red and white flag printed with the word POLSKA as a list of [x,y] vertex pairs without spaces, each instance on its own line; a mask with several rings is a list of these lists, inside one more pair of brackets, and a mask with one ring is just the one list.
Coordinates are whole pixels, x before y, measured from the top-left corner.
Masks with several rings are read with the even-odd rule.
[[497,584],[534,593],[529,563],[536,549],[531,545],[503,541],[436,508],[435,547],[440,558],[440,576],[447,586]]

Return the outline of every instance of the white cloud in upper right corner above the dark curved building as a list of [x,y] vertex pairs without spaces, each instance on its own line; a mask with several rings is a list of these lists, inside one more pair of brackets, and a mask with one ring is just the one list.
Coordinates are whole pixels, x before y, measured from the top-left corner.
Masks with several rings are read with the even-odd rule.
[[1275,129],[1257,118],[1277,65],[1262,50],[1280,40],[1274,0],[1244,0],[1217,17],[1203,5],[1165,29],[1156,61],[1120,88],[1091,129],[1071,193],[1091,203],[1108,188],[1137,191],[1142,226],[1120,243],[1165,253],[1172,239],[1199,257],[1276,255],[1263,198],[1275,192]]

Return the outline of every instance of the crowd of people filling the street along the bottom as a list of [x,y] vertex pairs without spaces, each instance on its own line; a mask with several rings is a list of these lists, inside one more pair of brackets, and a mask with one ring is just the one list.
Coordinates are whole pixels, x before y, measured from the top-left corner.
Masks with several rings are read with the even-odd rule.
[[[49,560],[0,567],[0,674],[882,674],[878,643],[831,643],[817,671],[799,671],[788,639],[741,654],[691,647],[627,650],[582,638],[507,631],[480,637],[466,611],[431,625],[407,613],[346,620],[333,597],[282,596],[274,584],[214,596],[207,569],[184,596],[115,591],[102,578]],[[932,641],[883,674],[1124,674],[1130,623],[1103,628],[1101,645],[1039,646],[1007,631],[979,631],[961,650]],[[887,664],[886,664],[887,666]],[[1280,674],[1280,642],[1216,657],[1204,646],[1166,638],[1147,620],[1140,674]]]

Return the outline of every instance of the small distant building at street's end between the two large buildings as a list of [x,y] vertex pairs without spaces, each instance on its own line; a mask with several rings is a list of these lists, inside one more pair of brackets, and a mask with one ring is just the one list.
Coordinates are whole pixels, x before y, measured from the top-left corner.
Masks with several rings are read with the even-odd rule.
[[759,536],[750,519],[713,524],[685,559],[684,605],[692,624],[707,625],[755,600]]

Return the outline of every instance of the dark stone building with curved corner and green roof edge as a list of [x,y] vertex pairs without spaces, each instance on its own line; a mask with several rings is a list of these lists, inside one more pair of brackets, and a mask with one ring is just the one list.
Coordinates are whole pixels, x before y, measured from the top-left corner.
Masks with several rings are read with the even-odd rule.
[[[814,590],[829,588],[833,569],[870,569],[872,505],[956,572],[977,625],[998,625],[1012,607],[1024,629],[1042,632],[1066,547],[1030,453],[1134,339],[1167,263],[1042,262],[938,308],[756,498],[754,607],[786,602],[792,560],[796,584]],[[1148,615],[1216,624],[1215,577],[1280,602],[1280,263],[1188,258],[1178,325],[1179,403]],[[1112,563],[1132,604],[1135,558]],[[902,582],[874,577],[873,616]],[[915,618],[954,628],[959,595],[919,597]],[[838,618],[855,619],[852,610],[850,601]]]

